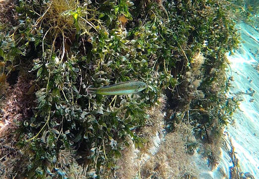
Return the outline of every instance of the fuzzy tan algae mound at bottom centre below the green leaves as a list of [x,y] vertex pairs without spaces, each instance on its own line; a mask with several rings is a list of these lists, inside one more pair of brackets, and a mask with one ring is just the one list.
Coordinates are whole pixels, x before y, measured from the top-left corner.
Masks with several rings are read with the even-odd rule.
[[[161,96],[159,101],[166,100]],[[115,178],[166,179],[192,178],[197,175],[195,166],[186,153],[187,145],[195,143],[193,126],[180,123],[174,132],[164,136],[164,107],[165,105],[155,105],[148,110],[147,126],[140,132],[143,147],[136,149],[129,142],[129,147],[123,149],[122,157],[117,162]]]

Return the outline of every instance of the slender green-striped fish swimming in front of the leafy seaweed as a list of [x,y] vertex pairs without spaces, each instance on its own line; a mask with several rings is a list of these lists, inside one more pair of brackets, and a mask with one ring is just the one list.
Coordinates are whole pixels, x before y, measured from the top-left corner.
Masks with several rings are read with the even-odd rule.
[[145,89],[147,86],[144,82],[129,81],[123,82],[108,87],[101,88],[87,88],[87,94],[102,94],[102,95],[122,95],[139,92]]

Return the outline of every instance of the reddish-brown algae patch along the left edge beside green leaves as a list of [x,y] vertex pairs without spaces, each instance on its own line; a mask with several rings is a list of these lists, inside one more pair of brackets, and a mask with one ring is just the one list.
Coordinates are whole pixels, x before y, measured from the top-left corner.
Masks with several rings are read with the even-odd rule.
[[26,120],[32,116],[31,107],[35,105],[31,79],[20,72],[17,83],[7,89],[1,102],[0,176],[3,178],[20,177],[30,163],[28,153],[17,148],[17,143],[24,137],[20,136],[18,126],[28,125]]

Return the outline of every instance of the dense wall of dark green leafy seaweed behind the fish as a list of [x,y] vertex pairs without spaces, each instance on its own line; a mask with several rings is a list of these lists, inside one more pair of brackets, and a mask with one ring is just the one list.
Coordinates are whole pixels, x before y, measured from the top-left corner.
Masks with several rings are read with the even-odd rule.
[[[1,2],[0,176],[191,177],[195,170],[185,155],[193,154],[198,144],[192,137],[182,139],[183,133],[201,141],[204,156],[215,166],[222,128],[239,101],[225,95],[233,80],[225,76],[225,53],[239,42],[232,4]],[[109,89],[129,81],[140,81],[145,89],[129,95],[87,95],[90,88]],[[150,135],[162,129],[169,133],[168,143],[157,156],[137,169],[131,163],[133,175],[122,173],[126,169],[118,165],[125,151],[145,154]],[[167,153],[172,145],[177,154]],[[186,167],[179,167],[172,156],[185,156]],[[169,162],[156,162],[157,157]],[[173,168],[177,173],[163,171]]]

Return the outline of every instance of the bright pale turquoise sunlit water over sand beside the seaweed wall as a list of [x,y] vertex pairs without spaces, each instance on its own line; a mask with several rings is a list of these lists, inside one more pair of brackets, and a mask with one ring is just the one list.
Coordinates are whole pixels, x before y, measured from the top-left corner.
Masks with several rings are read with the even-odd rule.
[[[259,179],[259,32],[245,23],[237,24],[236,28],[239,29],[243,42],[234,55],[227,56],[231,69],[227,75],[234,77],[234,88],[230,89],[229,95],[239,91],[251,92],[250,90],[255,90],[255,93],[253,96],[242,95],[244,100],[239,105],[240,110],[234,113],[234,123],[225,128],[225,134],[232,140],[241,171],[249,172],[255,179]],[[213,171],[208,167],[206,159],[194,156],[199,179],[230,178],[229,168],[233,164],[227,152],[223,149],[221,151],[219,166]]]

